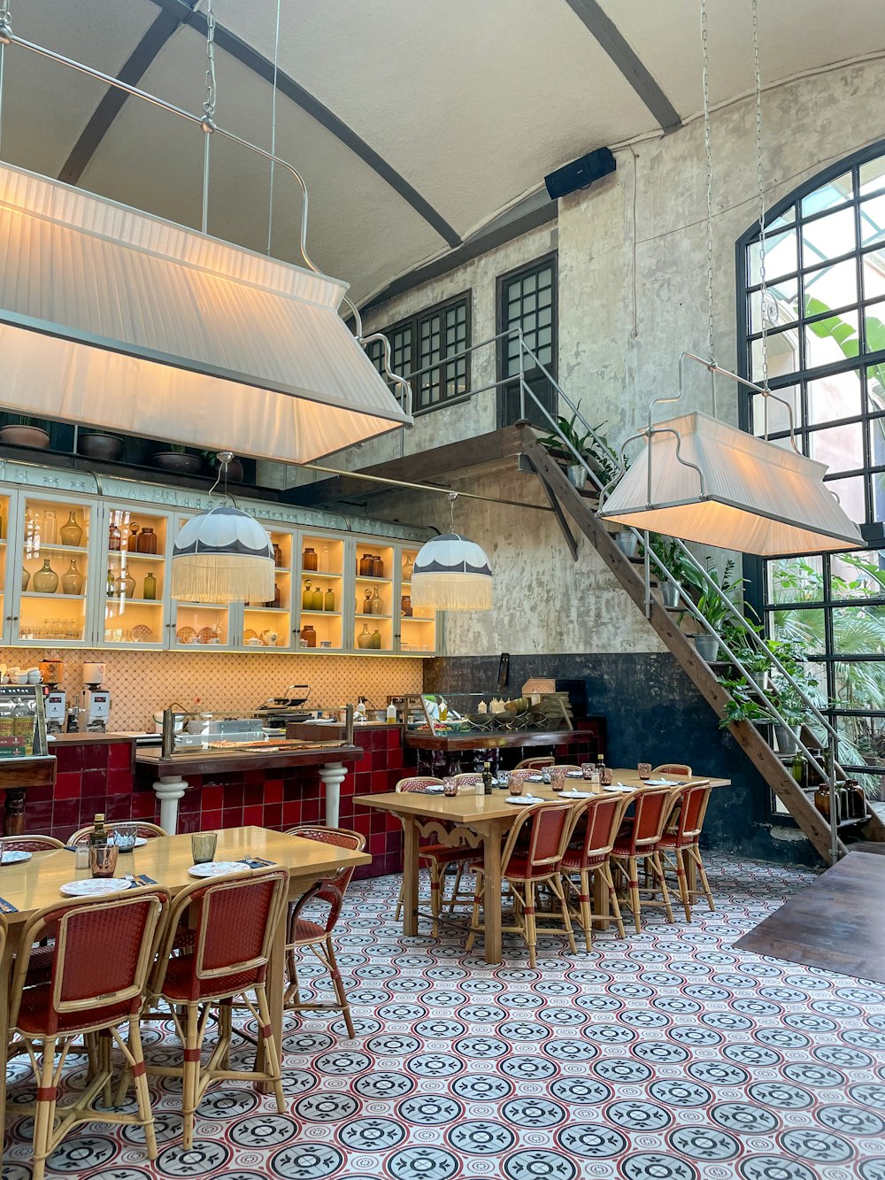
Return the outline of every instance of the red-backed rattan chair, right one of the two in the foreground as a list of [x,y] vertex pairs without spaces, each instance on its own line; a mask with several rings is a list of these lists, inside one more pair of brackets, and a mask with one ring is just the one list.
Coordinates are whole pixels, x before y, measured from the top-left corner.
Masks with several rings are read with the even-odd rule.
[[[284,868],[254,868],[245,873],[188,885],[171,905],[159,945],[157,965],[149,982],[152,1001],[164,999],[184,1045],[183,1066],[151,1066],[149,1073],[182,1077],[183,1147],[194,1143],[194,1115],[205,1090],[216,1079],[270,1082],[276,1109],[286,1110],[280,1068],[280,1047],[270,1025],[267,969],[270,949],[286,907],[289,874]],[[190,910],[194,953],[172,957],[176,931]],[[255,1003],[247,995],[254,992]],[[263,1045],[263,1069],[249,1073],[224,1068],[231,1037],[232,1001],[248,1008]],[[179,1015],[182,1012],[183,1014]],[[217,1042],[205,1064],[201,1050],[210,1012],[218,1016]],[[124,1076],[118,1093],[125,1093]]]

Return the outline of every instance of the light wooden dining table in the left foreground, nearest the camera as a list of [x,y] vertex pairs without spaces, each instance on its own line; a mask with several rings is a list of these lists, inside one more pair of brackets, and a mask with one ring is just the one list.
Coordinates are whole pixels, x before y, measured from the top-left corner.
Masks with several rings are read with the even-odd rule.
[[[372,861],[365,852],[352,852],[348,848],[339,848],[319,840],[306,840],[266,827],[222,828],[218,832],[215,859],[242,860],[243,858],[268,860],[275,866],[282,865],[288,868],[289,900],[299,898],[321,877],[335,873],[340,868],[355,868]],[[196,881],[196,878],[188,872],[192,866],[190,835],[165,835],[148,840],[131,853],[122,852],[117,861],[117,876],[123,877],[127,872],[144,873],[175,896]],[[0,866],[0,898],[17,906],[17,912],[5,914],[9,935],[0,961],[0,1056],[2,1056],[4,1073],[8,1042],[9,976],[25,923],[35,910],[65,900],[60,892],[61,885],[88,876],[87,868],[74,867],[74,856],[67,848],[34,852],[31,860]],[[281,1050],[283,1032],[284,965],[286,911],[274,937],[267,977],[270,1024],[277,1050]],[[0,1133],[5,1114],[6,1087],[4,1086],[0,1094]]]

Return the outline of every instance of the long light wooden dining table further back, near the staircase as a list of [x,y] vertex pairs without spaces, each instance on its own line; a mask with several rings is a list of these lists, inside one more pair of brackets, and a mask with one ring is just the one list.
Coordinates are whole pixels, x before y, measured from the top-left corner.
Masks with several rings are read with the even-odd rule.
[[[676,779],[668,775],[668,781],[676,787],[678,784],[709,782],[713,787],[730,786],[730,779],[693,775],[690,779]],[[622,784],[632,788],[635,796],[647,785],[636,771],[616,769],[612,773],[612,785]],[[594,786],[582,779],[566,779],[568,791],[589,791],[601,793],[602,787]],[[525,794],[532,794],[543,802],[570,802],[579,806],[585,799],[569,799],[553,791],[544,782],[526,782]],[[605,792],[608,793],[608,792]],[[502,846],[504,837],[516,821],[523,806],[509,804],[506,792],[493,789],[491,795],[477,795],[473,787],[461,789],[457,795],[421,794],[413,791],[386,791],[373,795],[355,795],[354,804],[363,807],[378,807],[392,812],[402,822],[402,933],[418,935],[418,870],[420,841],[433,840],[439,844],[466,844],[477,850],[477,857],[483,858],[485,873],[485,961],[502,961]]]

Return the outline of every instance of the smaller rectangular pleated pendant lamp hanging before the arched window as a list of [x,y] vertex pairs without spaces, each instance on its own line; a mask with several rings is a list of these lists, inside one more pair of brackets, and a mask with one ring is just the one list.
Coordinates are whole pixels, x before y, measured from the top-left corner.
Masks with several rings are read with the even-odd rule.
[[[687,464],[701,468],[703,496]],[[684,414],[655,424],[599,517],[763,557],[863,546],[860,530],[822,481],[826,470],[707,414]]]

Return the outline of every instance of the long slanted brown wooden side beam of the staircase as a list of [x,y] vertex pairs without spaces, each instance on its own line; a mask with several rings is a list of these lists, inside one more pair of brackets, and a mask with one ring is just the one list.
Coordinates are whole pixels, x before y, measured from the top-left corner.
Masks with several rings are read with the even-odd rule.
[[[577,529],[596,549],[599,557],[602,557],[627,594],[632,598],[636,607],[645,615],[645,582],[640,572],[642,566],[635,565],[615,544],[605,524],[598,519],[594,511],[596,506],[595,496],[582,492],[569,483],[563,468],[551,458],[548,450],[538,442],[531,426],[523,424],[520,431],[522,453],[526,457],[529,464],[544,485],[551,503],[555,499],[562,506]],[[563,524],[564,522],[560,520],[560,527]],[[568,540],[568,526],[565,526],[564,532]],[[719,683],[709,664],[700,658],[694,644],[688,641],[686,634],[680,630],[674,615],[654,595],[648,612],[648,621],[701,696],[703,696],[714,713],[721,717],[729,700],[727,690]],[[778,754],[772,749],[759,729],[748,721],[732,722],[728,729],[743,753],[774,791],[778,799],[789,811],[789,814],[795,819],[808,840],[811,840],[821,857],[830,861],[831,835],[826,819],[814,807],[809,796],[793,779],[789,771],[784,766]],[[883,824],[881,819],[874,812],[863,826],[856,826],[854,831],[858,838],[863,840],[885,840],[885,824]],[[840,854],[845,851],[845,845],[840,841]]]

